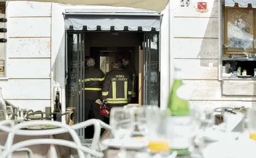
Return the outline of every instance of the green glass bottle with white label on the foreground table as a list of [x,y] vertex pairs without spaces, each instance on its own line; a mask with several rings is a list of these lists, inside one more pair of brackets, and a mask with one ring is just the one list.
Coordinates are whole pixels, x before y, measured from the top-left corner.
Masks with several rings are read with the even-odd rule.
[[178,155],[188,155],[191,145],[191,118],[188,102],[188,89],[183,84],[181,70],[175,68],[175,77],[168,98],[168,110],[171,111],[168,118],[168,134],[170,149],[176,150]]

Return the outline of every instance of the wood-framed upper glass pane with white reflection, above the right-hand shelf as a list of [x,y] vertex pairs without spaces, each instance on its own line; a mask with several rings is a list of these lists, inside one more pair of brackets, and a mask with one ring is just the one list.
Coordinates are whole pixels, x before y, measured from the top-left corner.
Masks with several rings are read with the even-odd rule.
[[254,52],[254,10],[248,8],[225,9],[226,54]]

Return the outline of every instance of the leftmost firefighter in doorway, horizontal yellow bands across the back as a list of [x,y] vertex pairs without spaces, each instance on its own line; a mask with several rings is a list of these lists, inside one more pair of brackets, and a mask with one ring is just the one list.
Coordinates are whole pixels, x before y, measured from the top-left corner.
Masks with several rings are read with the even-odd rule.
[[85,94],[85,121],[88,119],[90,110],[94,118],[103,119],[99,112],[99,105],[95,103],[97,99],[101,99],[102,84],[104,82],[104,73],[101,69],[94,67],[93,58],[87,59],[87,67],[85,68],[84,94]]

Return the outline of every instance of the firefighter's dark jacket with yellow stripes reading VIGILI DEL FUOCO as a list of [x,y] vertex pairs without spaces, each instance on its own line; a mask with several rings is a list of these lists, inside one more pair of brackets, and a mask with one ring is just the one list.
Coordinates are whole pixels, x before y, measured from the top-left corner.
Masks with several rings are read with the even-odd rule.
[[131,79],[125,70],[113,69],[106,74],[102,87],[103,100],[108,104],[127,104],[131,94]]

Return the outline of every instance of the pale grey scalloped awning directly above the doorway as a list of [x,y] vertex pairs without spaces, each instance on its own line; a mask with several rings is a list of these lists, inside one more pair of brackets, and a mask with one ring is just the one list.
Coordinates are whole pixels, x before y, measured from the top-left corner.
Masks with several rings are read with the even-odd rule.
[[125,27],[129,31],[160,31],[161,14],[155,11],[145,10],[65,10],[65,29],[73,27],[74,30],[96,31],[100,27],[102,31],[109,31],[111,27],[115,31],[123,31]]

